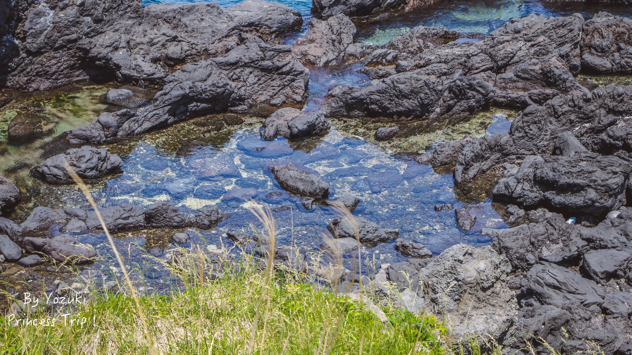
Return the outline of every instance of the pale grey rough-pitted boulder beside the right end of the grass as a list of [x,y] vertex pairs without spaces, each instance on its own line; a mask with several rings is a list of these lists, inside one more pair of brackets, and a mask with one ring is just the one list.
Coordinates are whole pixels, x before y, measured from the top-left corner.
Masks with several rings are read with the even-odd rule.
[[427,310],[444,315],[454,339],[490,335],[501,342],[518,321],[509,272],[509,260],[489,246],[451,246],[420,271]]

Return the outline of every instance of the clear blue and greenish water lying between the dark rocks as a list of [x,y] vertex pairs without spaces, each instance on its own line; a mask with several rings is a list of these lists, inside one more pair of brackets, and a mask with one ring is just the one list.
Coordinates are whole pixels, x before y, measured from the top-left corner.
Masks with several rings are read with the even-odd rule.
[[[186,2],[186,1],[175,1]],[[304,1],[282,1],[309,18],[310,4]],[[144,5],[152,1],[143,2]],[[155,3],[155,1],[154,1]],[[234,1],[223,1],[229,6]],[[599,3],[540,3],[538,1],[497,1],[493,5],[477,1],[451,1],[435,4],[413,13],[394,16],[386,21],[359,24],[356,42],[384,44],[394,35],[405,33],[417,25],[445,26],[460,32],[489,33],[504,21],[530,13],[547,16],[574,12],[590,17],[597,10],[629,16],[630,9]],[[307,22],[307,21],[306,21]],[[307,27],[303,26],[303,33]],[[301,33],[288,36],[295,40]],[[315,111],[324,102],[332,86],[348,83],[365,85],[370,79],[358,73],[360,64],[330,68],[310,68],[310,84],[306,111]],[[584,77],[599,84],[629,81],[629,78]],[[578,78],[579,80],[579,78]],[[69,146],[63,132],[90,123],[103,111],[115,111],[99,103],[99,97],[115,83],[105,85],[77,84],[54,92],[16,94],[11,104],[0,109],[0,174],[14,181],[21,189],[23,201],[9,218],[23,220],[39,205],[51,208],[83,207],[88,203],[75,186],[52,186],[33,179],[29,170],[47,157],[64,152]],[[46,135],[25,146],[9,145],[6,125],[21,112],[39,110],[48,117]],[[475,246],[490,243],[481,236],[482,228],[506,228],[499,212],[492,206],[484,189],[462,196],[453,190],[451,171],[436,171],[410,159],[410,153],[423,152],[442,140],[459,140],[471,134],[504,133],[511,126],[516,112],[492,108],[461,119],[428,123],[399,123],[402,133],[396,140],[377,142],[375,129],[392,123],[369,119],[332,119],[331,131],[322,137],[306,140],[279,138],[264,141],[259,129],[262,117],[223,114],[199,117],[154,131],[131,140],[106,145],[111,153],[123,159],[123,173],[102,179],[90,190],[102,207],[134,203],[148,207],[168,201],[183,212],[193,212],[204,205],[217,205],[231,215],[210,231],[197,229],[143,231],[118,234],[119,250],[125,250],[130,263],[143,263],[144,251],[162,256],[162,248],[170,243],[174,232],[186,232],[195,244],[231,246],[228,231],[252,234],[252,226],[260,227],[248,210],[253,203],[267,203],[277,224],[277,243],[299,246],[303,251],[317,251],[327,224],[337,217],[331,207],[315,205],[305,210],[296,196],[276,183],[267,166],[276,162],[293,162],[315,171],[331,185],[331,197],[354,195],[362,200],[354,215],[365,217],[380,226],[398,229],[399,236],[423,243],[435,255],[449,246],[469,243]],[[61,136],[60,136],[61,135]],[[408,154],[406,154],[408,153]],[[463,232],[456,225],[454,211],[434,210],[437,203],[470,208],[477,217],[476,225]],[[497,210],[494,208],[496,207]],[[49,234],[59,234],[53,227]],[[110,258],[104,234],[76,234],[80,242],[90,243],[100,255]],[[133,246],[133,247],[132,247]],[[157,247],[157,248],[156,248]],[[394,242],[367,248],[365,256],[375,258],[375,265],[403,260]],[[82,267],[85,274],[103,279],[109,274],[104,264]],[[168,283],[170,277],[152,282]],[[105,280],[105,279],[104,279]]]

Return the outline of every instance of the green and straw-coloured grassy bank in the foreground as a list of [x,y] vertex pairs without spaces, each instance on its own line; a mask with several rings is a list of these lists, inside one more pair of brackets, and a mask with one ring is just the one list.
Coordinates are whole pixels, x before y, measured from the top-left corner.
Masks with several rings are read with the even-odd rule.
[[268,274],[258,270],[253,258],[225,268],[223,277],[216,280],[208,277],[214,271],[211,264],[204,260],[193,260],[193,264],[202,270],[200,274],[190,272],[190,267],[173,268],[185,280],[181,289],[169,298],[140,297],[140,309],[131,296],[107,292],[95,293],[87,304],[76,307],[73,316],[59,315],[59,322],[52,326],[14,327],[8,318],[0,318],[0,354],[445,351],[446,329],[433,316],[413,315],[386,305],[382,309],[388,321],[382,322],[362,303],[336,296],[336,290],[319,286],[308,274]]

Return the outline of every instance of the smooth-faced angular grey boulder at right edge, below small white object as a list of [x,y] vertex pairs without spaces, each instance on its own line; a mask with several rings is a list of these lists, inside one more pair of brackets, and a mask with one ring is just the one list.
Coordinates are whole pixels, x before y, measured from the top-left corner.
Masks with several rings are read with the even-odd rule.
[[632,249],[591,250],[584,254],[583,267],[598,284],[623,279],[632,261]]

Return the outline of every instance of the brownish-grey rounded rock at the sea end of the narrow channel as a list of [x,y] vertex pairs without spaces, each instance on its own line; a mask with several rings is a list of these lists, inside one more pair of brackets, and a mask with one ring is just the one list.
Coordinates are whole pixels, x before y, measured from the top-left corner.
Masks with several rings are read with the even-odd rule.
[[314,18],[305,36],[296,40],[294,52],[303,64],[336,64],[348,56],[346,50],[353,43],[355,33],[353,22],[342,14],[326,21]]

